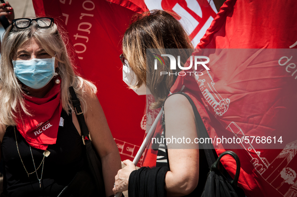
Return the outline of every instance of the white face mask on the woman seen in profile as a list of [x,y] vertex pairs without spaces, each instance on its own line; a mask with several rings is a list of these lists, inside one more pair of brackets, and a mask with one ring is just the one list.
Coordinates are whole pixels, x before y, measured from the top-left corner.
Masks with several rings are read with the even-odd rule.
[[130,68],[128,61],[125,60],[125,62],[128,66],[123,65],[123,81],[138,95],[151,94],[150,90],[146,88],[145,84],[142,84],[139,88],[135,88],[137,77]]

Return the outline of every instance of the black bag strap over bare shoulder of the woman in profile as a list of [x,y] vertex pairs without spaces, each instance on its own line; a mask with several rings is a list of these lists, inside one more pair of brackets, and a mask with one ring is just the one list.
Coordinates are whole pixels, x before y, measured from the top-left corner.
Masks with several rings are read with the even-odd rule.
[[[208,134],[208,132],[207,132],[205,126],[204,126],[203,120],[202,120],[202,118],[201,118],[201,116],[200,116],[194,102],[192,101],[192,99],[187,94],[185,94],[183,92],[176,92],[176,93],[173,93],[173,94],[171,94],[169,96],[172,96],[174,94],[182,94],[183,96],[185,96],[187,98],[187,100],[190,102],[190,104],[191,104],[191,106],[193,108],[193,112],[194,112],[194,115],[195,115],[197,135],[200,134],[200,137],[202,137],[202,138],[209,138],[210,136],[209,136],[209,134]],[[165,101],[166,101],[166,99],[165,99]],[[165,103],[165,101],[164,101],[164,103]],[[162,107],[164,107],[164,103],[163,103]],[[163,111],[164,111],[164,108],[163,108]],[[209,168],[211,169],[212,165],[216,162],[215,154],[213,152],[214,145],[210,144],[210,143],[203,143],[203,148],[204,148],[204,152],[205,152],[205,155],[206,155],[206,158],[207,158]]]

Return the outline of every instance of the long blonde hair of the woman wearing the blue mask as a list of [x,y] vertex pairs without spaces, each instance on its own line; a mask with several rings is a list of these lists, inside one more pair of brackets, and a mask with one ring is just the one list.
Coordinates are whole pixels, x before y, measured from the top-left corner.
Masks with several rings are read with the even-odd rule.
[[[91,82],[77,76],[75,68],[71,64],[69,54],[67,53],[65,43],[61,37],[58,28],[52,24],[49,28],[38,28],[35,21],[27,29],[18,29],[11,25],[3,36],[1,69],[0,69],[0,122],[4,125],[16,125],[15,118],[20,111],[31,115],[26,108],[22,91],[12,64],[13,56],[17,50],[28,40],[35,39],[43,49],[58,60],[57,73],[62,79],[61,83],[61,102],[63,109],[69,112],[72,110],[71,99],[68,88],[73,86],[78,99],[83,105],[83,111],[86,112],[85,93],[96,93],[96,87]],[[67,43],[67,40],[65,40]]]

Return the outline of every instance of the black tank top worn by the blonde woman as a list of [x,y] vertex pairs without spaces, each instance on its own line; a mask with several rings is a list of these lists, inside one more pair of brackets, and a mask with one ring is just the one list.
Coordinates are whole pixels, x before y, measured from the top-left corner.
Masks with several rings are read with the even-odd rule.
[[[56,144],[49,145],[47,150],[50,155],[45,157],[44,167],[37,170],[41,177],[41,187],[36,173],[27,175],[21,162],[20,155],[27,171],[33,172],[34,164],[29,144],[16,129],[17,142],[20,155],[17,150],[14,127],[6,129],[1,150],[4,159],[4,192],[5,196],[57,196],[70,182],[75,173],[84,166],[82,154],[83,143],[81,136],[72,123],[72,115],[62,110],[61,117],[64,126],[59,126]],[[43,150],[31,147],[36,168],[43,159]]]

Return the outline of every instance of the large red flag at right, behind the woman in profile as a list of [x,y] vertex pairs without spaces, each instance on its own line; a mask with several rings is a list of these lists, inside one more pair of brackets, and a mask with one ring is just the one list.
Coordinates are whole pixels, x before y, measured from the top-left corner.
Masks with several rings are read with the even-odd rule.
[[[196,48],[296,48],[297,28],[293,25],[297,22],[296,9],[294,1],[227,0]],[[271,56],[264,56],[262,62],[268,63],[268,57]],[[200,96],[194,97],[195,102],[202,98],[200,103],[203,105],[197,103],[197,108],[210,136],[228,135],[233,129],[247,136],[281,134],[286,140],[291,138],[293,141],[297,126],[295,76],[278,65],[277,59],[272,59],[274,62],[269,62],[266,67],[263,64],[254,64],[253,68],[243,67],[243,62],[234,66],[232,61],[238,61],[236,56],[221,54],[219,60],[216,65],[210,66],[210,76],[217,91],[211,94],[230,99],[226,113],[221,116],[216,114],[204,96],[204,90],[199,91]],[[220,64],[221,62],[228,62],[229,65]],[[249,72],[252,69],[257,71],[253,70],[252,74]],[[208,75],[200,79],[206,80],[206,84],[212,81]],[[198,88],[189,92],[193,94]],[[207,111],[205,106],[208,106]],[[247,196],[295,195],[297,158],[293,152],[296,141],[284,145],[286,146],[283,149],[232,149],[241,160],[239,185],[245,189]],[[224,147],[216,148],[218,155],[225,151]],[[222,163],[230,174],[235,174],[235,162],[232,158],[223,157]]]

